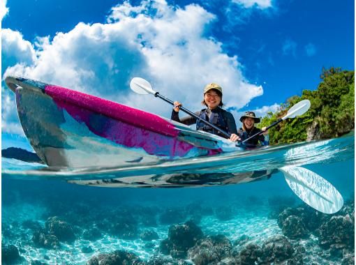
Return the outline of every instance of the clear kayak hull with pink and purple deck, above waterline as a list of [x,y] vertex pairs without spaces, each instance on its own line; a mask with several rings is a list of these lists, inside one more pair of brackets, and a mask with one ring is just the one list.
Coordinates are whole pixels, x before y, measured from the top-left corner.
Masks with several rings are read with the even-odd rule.
[[112,167],[236,151],[161,116],[31,79],[6,77],[24,133],[50,166]]

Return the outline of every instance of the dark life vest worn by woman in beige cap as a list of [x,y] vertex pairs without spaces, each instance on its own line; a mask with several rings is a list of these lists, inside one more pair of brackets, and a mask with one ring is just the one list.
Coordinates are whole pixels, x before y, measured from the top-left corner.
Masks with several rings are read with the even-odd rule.
[[[218,128],[221,128],[221,130],[224,130],[225,132],[229,132],[228,130],[228,123],[225,118],[225,110],[221,109],[220,107],[214,109],[212,112],[212,117],[209,119],[209,112],[212,112],[210,109],[202,109],[200,111],[200,118],[204,119],[205,121],[209,121],[210,123],[213,123],[214,126],[217,126]],[[221,132],[218,130],[215,130],[214,128],[208,126],[207,124],[203,123],[200,120],[197,120],[197,130],[204,130],[205,132],[210,132],[214,135],[219,135],[221,137],[225,137],[225,135],[222,135]]]

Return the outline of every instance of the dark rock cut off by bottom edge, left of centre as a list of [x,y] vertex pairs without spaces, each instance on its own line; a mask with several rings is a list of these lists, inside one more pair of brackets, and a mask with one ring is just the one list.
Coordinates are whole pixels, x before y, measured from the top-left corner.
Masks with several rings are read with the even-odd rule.
[[144,265],[144,262],[131,252],[125,250],[115,250],[111,253],[99,254],[96,257],[92,257],[87,262],[88,265],[116,265],[116,264],[132,264],[132,265]]

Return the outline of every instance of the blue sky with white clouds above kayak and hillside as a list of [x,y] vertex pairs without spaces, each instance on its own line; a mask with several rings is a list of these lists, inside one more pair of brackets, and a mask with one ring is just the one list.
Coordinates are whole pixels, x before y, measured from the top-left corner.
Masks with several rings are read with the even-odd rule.
[[[3,3],[3,76],[39,79],[163,116],[170,106],[133,95],[132,77],[148,79],[192,110],[201,108],[205,84],[217,82],[238,120],[246,109],[262,116],[303,89],[316,89],[322,67],[355,66],[351,0]],[[1,86],[2,130],[22,134],[13,95]]]

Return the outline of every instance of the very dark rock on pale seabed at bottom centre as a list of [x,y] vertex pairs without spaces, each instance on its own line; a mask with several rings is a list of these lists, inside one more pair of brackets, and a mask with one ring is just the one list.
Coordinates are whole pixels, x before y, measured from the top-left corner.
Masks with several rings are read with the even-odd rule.
[[183,225],[172,225],[168,230],[168,239],[161,241],[160,250],[165,255],[184,259],[187,250],[202,237],[200,227],[191,221]]

